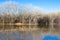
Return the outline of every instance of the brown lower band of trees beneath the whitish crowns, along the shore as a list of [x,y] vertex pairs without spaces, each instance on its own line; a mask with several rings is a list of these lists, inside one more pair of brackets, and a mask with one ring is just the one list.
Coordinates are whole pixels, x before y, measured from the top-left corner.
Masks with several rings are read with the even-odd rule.
[[38,26],[60,25],[59,14],[1,14],[0,23],[36,23]]

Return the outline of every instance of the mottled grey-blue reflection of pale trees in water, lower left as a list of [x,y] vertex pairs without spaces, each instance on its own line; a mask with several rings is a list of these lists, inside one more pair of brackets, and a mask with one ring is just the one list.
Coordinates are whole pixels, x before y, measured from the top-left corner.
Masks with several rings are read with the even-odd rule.
[[0,33],[0,40],[33,40],[33,37],[27,32]]

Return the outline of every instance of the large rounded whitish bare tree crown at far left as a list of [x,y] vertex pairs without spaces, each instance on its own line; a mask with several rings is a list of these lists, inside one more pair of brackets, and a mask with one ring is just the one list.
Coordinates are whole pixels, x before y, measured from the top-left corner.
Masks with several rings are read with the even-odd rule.
[[16,2],[2,2],[0,3],[0,11],[6,13],[16,13],[20,8],[20,5]]

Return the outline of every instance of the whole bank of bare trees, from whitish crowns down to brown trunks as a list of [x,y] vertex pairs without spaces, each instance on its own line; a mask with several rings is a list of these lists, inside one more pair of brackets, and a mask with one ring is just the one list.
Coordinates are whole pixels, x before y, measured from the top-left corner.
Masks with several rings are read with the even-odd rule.
[[36,24],[39,28],[60,27],[60,12],[45,14],[39,8],[20,7],[16,3],[0,5],[0,23]]

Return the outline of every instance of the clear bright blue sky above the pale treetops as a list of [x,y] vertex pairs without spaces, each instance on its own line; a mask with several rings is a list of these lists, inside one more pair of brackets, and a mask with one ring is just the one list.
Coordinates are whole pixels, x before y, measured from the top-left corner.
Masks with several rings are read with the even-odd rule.
[[12,1],[19,4],[32,4],[42,8],[46,12],[60,11],[60,0],[0,0],[1,2]]

